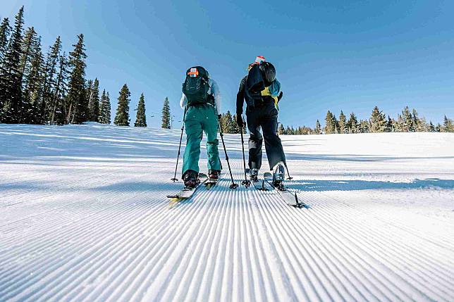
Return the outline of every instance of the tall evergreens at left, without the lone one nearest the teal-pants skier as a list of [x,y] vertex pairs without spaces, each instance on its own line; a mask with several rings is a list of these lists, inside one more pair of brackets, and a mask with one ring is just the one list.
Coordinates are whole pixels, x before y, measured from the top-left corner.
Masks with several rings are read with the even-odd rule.
[[[68,54],[62,51],[61,37],[57,37],[44,55],[35,28],[24,29],[24,7],[13,25],[8,18],[1,20],[0,123],[111,123],[109,92],[104,89],[100,96],[99,80],[85,79],[84,35],[77,38]],[[118,97],[116,125],[129,125],[129,95],[125,84]],[[138,127],[147,125],[143,94],[136,120]]]

